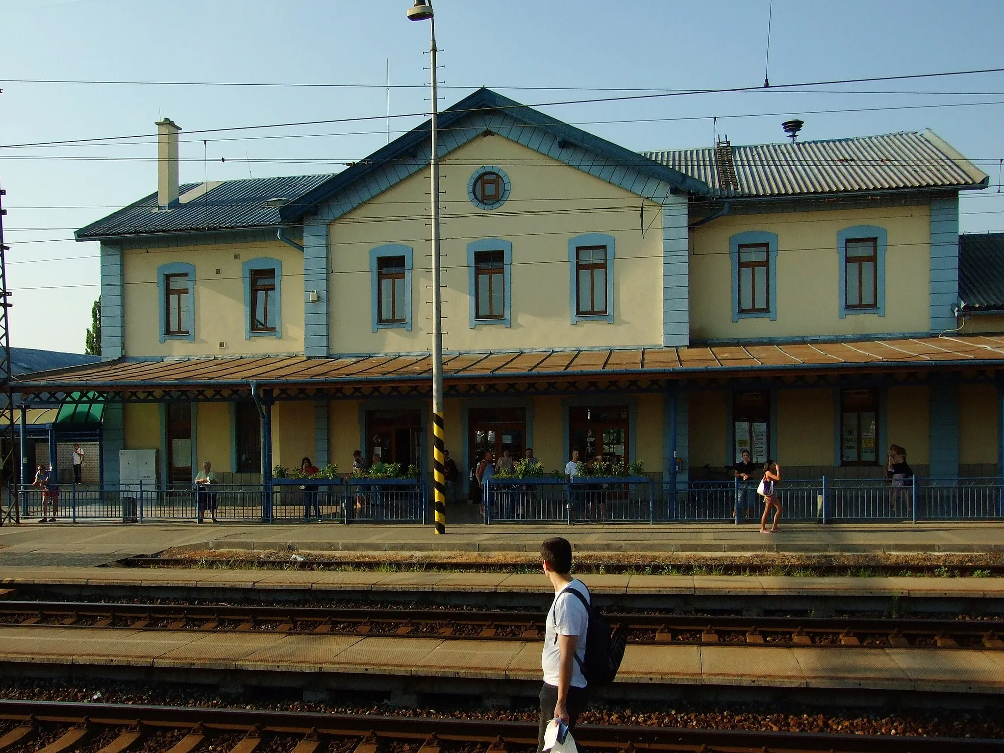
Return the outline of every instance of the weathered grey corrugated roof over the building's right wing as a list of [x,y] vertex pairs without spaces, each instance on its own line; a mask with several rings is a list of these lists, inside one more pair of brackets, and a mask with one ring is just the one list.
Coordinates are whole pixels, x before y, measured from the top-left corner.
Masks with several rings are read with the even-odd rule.
[[643,152],[704,181],[716,196],[790,196],[977,187],[987,176],[933,131],[732,147],[739,187],[723,186],[714,147]]

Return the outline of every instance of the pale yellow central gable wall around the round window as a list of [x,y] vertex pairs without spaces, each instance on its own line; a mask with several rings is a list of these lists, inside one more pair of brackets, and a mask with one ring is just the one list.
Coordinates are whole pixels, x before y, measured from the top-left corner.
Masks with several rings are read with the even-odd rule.
[[[482,165],[509,176],[511,194],[498,209],[468,200],[468,181]],[[443,159],[443,315],[447,350],[528,349],[662,344],[660,208],[501,136],[476,139]],[[524,214],[525,213],[525,214]],[[339,353],[412,352],[431,346],[429,173],[402,181],[329,226],[330,349]],[[605,233],[616,241],[613,324],[571,323],[568,240]],[[470,327],[467,244],[512,243],[512,326]],[[370,326],[369,250],[414,249],[413,329]]]

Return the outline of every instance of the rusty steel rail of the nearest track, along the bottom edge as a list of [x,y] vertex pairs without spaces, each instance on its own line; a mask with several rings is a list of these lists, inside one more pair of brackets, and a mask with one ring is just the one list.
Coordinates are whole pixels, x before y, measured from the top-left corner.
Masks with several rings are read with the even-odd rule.
[[[0,719],[89,726],[122,727],[141,734],[145,727],[175,727],[196,734],[262,732],[303,735],[302,743],[324,737],[358,738],[356,751],[376,750],[393,740],[421,744],[420,753],[439,751],[448,741],[481,742],[493,753],[503,753],[507,744],[532,745],[537,725],[533,722],[470,720],[430,717],[283,712],[248,709],[141,706],[62,701],[0,701]],[[123,732],[126,730],[123,729]],[[849,733],[750,732],[629,725],[582,725],[576,743],[586,749],[632,751],[829,751],[830,753],[989,753],[1000,751],[1000,740],[972,738],[896,737]],[[368,736],[371,735],[371,738]],[[370,747],[363,745],[370,744]],[[239,744],[238,744],[239,745]],[[299,747],[299,746],[297,746]],[[308,746],[305,746],[308,747]],[[317,749],[317,746],[314,746]],[[237,750],[235,747],[233,750]]]

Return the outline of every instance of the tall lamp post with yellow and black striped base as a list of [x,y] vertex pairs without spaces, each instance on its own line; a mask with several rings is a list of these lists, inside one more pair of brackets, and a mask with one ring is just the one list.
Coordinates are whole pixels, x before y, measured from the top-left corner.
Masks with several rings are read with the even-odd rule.
[[439,238],[439,150],[436,134],[439,100],[436,94],[436,19],[433,17],[432,0],[415,0],[408,9],[411,21],[429,20],[432,42],[429,47],[432,66],[433,110],[430,121],[432,141],[432,214],[433,214],[433,493],[435,495],[436,533],[446,533],[446,478],[443,456],[445,434],[443,429],[443,311],[440,293],[440,238]]

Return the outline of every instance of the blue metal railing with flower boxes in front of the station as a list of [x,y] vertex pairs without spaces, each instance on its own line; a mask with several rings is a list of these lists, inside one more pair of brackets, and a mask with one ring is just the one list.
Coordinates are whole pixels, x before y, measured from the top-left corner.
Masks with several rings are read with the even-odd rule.
[[[756,483],[647,477],[491,479],[484,522],[751,523],[763,513]],[[21,517],[42,516],[39,487],[18,489]],[[273,479],[268,485],[61,484],[46,518],[60,521],[331,521],[428,523],[429,490],[417,479]],[[782,517],[817,523],[1004,520],[1004,479],[787,480]],[[53,503],[55,510],[53,511]]]

